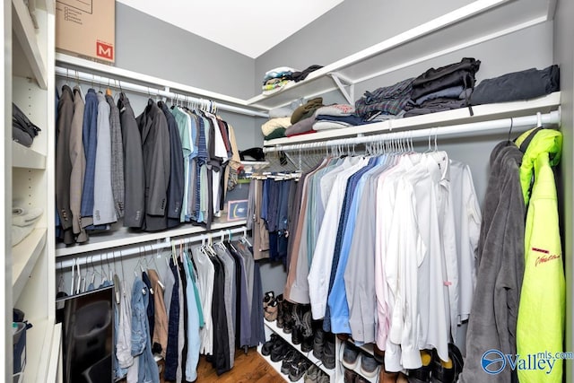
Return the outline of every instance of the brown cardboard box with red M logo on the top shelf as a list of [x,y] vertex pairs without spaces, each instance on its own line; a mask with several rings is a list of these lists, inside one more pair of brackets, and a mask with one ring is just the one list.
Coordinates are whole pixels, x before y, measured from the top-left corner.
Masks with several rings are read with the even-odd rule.
[[57,0],[56,49],[104,64],[116,58],[115,0]]

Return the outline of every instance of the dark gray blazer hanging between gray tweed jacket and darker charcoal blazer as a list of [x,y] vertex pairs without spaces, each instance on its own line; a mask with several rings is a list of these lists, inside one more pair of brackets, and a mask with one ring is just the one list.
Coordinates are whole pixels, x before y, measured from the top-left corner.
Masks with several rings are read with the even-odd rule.
[[145,213],[142,137],[135,121],[134,109],[124,93],[117,100],[124,147],[124,226],[141,228]]

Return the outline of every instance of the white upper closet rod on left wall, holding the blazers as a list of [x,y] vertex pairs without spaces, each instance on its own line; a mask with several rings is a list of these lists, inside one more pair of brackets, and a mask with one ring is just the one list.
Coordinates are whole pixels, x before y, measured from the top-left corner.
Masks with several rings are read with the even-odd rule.
[[[57,76],[65,77],[65,78],[68,78],[71,80],[81,80],[85,83],[98,83],[98,84],[110,86],[110,87],[113,87],[116,89],[121,86],[121,89],[124,91],[135,91],[137,93],[142,93],[144,95],[149,95],[151,97],[161,96],[161,97],[165,97],[166,99],[185,100],[185,101],[196,102],[196,103],[200,103],[202,101],[208,101],[206,99],[198,99],[196,97],[187,96],[184,94],[172,92],[172,91],[170,91],[169,87],[165,87],[164,89],[157,89],[157,88],[152,88],[152,87],[145,86],[145,85],[140,85],[137,83],[128,83],[128,82],[123,81],[123,80],[117,80],[117,79],[113,79],[113,78],[109,78],[109,77],[103,77],[103,76],[100,76],[99,74],[89,74],[86,72],[77,71],[75,69],[63,68],[61,66],[56,66],[55,72],[56,72]],[[160,85],[160,84],[156,84],[156,85]],[[253,110],[253,109],[239,108],[239,107],[236,107],[233,105],[222,104],[220,102],[215,102],[215,106],[217,107],[217,109],[227,110],[227,111],[234,112],[234,113],[239,113],[239,114],[248,115],[248,116],[269,118],[268,113],[260,112],[260,111]]]

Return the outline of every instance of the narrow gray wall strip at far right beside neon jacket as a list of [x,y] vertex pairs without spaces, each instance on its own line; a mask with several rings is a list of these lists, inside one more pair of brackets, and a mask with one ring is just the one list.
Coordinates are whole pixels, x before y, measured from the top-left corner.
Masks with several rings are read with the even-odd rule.
[[[561,206],[563,220],[564,262],[566,268],[566,342],[565,351],[574,350],[572,335],[572,322],[574,320],[574,305],[572,304],[572,292],[574,291],[574,267],[572,267],[572,248],[574,239],[573,208],[573,178],[574,174],[574,3],[571,0],[560,0],[555,13],[554,22],[554,62],[561,66],[561,131],[564,135],[561,158],[561,174],[563,175],[561,186]],[[566,380],[574,380],[572,363],[564,363]]]

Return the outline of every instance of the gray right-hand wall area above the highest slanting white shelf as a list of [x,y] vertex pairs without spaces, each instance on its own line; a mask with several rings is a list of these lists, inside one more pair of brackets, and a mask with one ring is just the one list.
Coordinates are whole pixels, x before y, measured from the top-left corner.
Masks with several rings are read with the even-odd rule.
[[267,70],[291,66],[329,65],[343,57],[428,22],[472,0],[389,1],[347,0],[315,22],[257,57],[256,93]]

